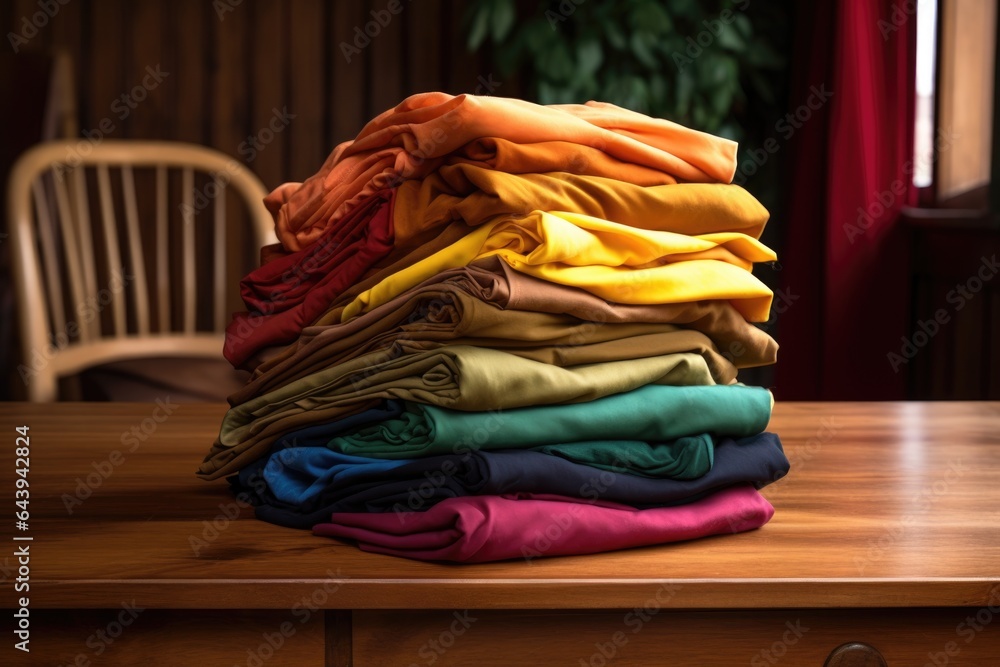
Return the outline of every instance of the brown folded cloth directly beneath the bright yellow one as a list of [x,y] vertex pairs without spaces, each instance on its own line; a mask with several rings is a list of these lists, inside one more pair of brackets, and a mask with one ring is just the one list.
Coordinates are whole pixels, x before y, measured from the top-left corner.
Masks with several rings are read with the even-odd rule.
[[[719,355],[736,368],[773,363],[777,354],[774,339],[743,319],[728,302],[613,304],[580,289],[519,273],[499,258],[490,257],[443,271],[348,322],[340,323],[336,319],[306,327],[294,345],[258,364],[248,384],[231,395],[229,402],[238,405],[299,377],[302,369],[321,359],[328,363],[335,359],[345,360],[382,349],[397,338],[475,344],[472,332],[483,331],[484,326],[494,334],[497,332],[490,324],[492,318],[516,319],[521,312],[574,318],[578,324],[572,326],[577,329],[573,333],[565,332],[572,343],[583,342],[581,338],[593,335],[603,336],[602,332],[616,330],[614,325],[618,324],[667,324],[701,332],[711,339]],[[570,320],[548,320],[550,324],[559,321],[570,326]],[[551,329],[550,326],[543,329],[538,323],[530,327],[503,328],[513,331],[515,336],[511,344],[504,347],[533,337],[542,338],[536,332]],[[663,330],[668,329],[664,327]],[[491,337],[500,338],[498,335]]]

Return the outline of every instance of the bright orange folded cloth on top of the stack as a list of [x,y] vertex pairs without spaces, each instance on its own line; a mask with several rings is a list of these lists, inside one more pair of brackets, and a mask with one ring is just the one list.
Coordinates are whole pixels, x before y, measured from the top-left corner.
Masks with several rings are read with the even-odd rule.
[[[506,140],[505,149],[541,142],[593,149],[574,161],[537,146],[508,151],[504,166],[513,173],[543,171],[559,159],[564,169],[592,173],[591,167],[602,164],[605,170],[598,173],[608,173],[599,153],[678,181],[728,183],[736,169],[734,142],[611,104],[546,107],[502,97],[420,93],[372,119],[354,141],[337,146],[304,183],[285,183],[268,195],[265,204],[278,239],[286,250],[300,250],[373,192],[423,178],[469,144],[481,157],[484,146],[474,142],[488,138]],[[489,145],[485,151],[488,156]]]

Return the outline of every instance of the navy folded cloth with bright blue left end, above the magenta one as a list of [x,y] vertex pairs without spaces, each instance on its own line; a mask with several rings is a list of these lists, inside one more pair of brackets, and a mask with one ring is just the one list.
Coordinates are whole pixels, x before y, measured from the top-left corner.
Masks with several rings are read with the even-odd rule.
[[[693,502],[735,484],[762,488],[785,476],[789,463],[778,436],[722,439],[715,463],[696,479],[653,479],[602,470],[531,450],[469,451],[423,459],[349,456],[325,447],[274,451],[259,483],[257,518],[312,528],[334,512],[423,511],[446,498],[545,493],[605,500],[638,508]],[[244,471],[245,472],[245,471]],[[259,474],[259,471],[258,471]],[[244,483],[251,478],[240,479]],[[239,484],[236,485],[239,487]],[[244,486],[244,488],[246,488]]]

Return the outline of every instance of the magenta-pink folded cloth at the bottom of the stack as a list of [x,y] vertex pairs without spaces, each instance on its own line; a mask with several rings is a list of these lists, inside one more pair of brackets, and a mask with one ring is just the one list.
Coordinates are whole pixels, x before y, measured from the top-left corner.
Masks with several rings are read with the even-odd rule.
[[425,512],[337,513],[313,533],[415,560],[483,563],[589,554],[760,528],[774,515],[750,485],[688,505],[636,509],[554,495],[449,498]]

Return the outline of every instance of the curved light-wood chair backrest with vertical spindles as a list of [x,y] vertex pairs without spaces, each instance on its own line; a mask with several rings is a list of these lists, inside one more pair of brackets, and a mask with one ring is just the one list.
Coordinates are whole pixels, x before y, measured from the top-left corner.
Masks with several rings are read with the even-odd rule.
[[[84,139],[25,152],[7,205],[29,400],[55,400],[59,377],[110,361],[221,358],[232,240],[246,264],[276,241],[266,194],[238,160],[192,144]],[[241,216],[227,200],[242,201],[249,225],[227,225]]]

